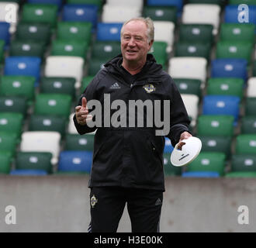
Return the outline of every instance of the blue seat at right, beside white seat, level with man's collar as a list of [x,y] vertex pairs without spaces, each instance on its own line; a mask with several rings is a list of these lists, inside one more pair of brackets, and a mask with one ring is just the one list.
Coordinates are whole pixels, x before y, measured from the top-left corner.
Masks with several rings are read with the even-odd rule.
[[216,59],[212,61],[211,77],[239,77],[247,81],[247,60]]

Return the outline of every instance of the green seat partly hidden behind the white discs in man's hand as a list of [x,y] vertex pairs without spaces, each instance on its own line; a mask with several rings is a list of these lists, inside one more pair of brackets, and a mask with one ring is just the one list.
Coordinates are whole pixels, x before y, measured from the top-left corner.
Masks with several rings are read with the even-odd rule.
[[186,171],[212,171],[217,172],[220,176],[225,172],[225,154],[201,152],[199,156],[186,167]]

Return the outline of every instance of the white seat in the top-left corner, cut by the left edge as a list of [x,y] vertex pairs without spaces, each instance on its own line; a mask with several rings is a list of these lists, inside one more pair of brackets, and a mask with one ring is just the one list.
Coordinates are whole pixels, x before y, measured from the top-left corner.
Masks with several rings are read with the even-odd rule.
[[19,4],[17,2],[0,2],[0,22],[10,24],[10,33],[15,33],[19,19]]

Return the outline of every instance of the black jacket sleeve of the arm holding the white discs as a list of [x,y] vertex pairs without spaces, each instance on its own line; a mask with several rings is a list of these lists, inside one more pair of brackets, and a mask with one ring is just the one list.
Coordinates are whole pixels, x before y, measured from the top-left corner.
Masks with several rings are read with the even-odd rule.
[[169,82],[169,96],[170,96],[170,133],[167,137],[171,140],[172,146],[178,143],[181,134],[189,131],[189,115],[185,109],[182,96],[178,91],[175,82],[170,77]]

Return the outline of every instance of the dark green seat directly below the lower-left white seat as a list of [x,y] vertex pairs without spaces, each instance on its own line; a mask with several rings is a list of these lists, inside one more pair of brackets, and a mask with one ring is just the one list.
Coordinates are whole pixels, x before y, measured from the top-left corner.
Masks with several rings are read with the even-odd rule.
[[47,152],[18,152],[16,154],[16,170],[43,170],[47,174],[53,172],[53,166],[50,163],[52,154]]

